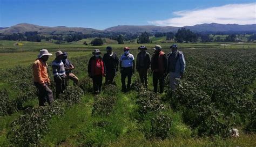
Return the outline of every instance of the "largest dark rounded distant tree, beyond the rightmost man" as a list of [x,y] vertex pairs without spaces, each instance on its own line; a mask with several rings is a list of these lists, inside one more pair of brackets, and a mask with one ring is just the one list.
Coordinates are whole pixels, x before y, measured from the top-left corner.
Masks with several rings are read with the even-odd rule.
[[197,42],[198,36],[196,33],[193,33],[189,29],[180,28],[178,32],[175,34],[177,42],[190,41]]

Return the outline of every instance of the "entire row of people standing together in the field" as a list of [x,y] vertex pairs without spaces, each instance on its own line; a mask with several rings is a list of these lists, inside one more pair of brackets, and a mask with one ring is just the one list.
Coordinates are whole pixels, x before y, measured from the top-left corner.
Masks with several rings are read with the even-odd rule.
[[[92,78],[93,92],[98,94],[102,90],[103,77],[106,84],[114,83],[114,77],[120,68],[122,91],[130,90],[131,78],[135,70],[139,73],[140,81],[147,87],[147,72],[151,68],[153,72],[154,92],[158,92],[158,83],[160,93],[164,92],[164,78],[170,76],[170,87],[176,89],[177,80],[183,77],[185,71],[185,57],[183,52],[178,50],[178,46],[173,44],[170,54],[166,55],[161,46],[154,47],[154,54],[150,55],[145,46],[138,48],[140,52],[137,55],[136,62],[134,56],[130,53],[130,48],[123,48],[124,53],[120,58],[112,51],[112,47],[106,47],[106,53],[102,56],[99,49],[92,52],[87,72]],[[47,72],[48,65],[46,61],[51,56],[46,49],[40,50],[37,60],[33,64],[33,82],[39,91],[39,105],[44,106],[46,102],[51,104],[53,100],[52,91],[49,88],[50,79]],[[74,84],[78,83],[78,78],[72,73],[74,66],[67,59],[68,53],[56,52],[56,58],[52,61],[52,72],[56,83],[56,97],[65,90],[68,80],[72,79]],[[119,65],[119,66],[118,66]],[[127,78],[127,84],[125,79]]]

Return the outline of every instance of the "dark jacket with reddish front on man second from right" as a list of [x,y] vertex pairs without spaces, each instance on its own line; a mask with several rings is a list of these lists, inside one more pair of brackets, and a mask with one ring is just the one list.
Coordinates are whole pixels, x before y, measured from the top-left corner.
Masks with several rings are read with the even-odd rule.
[[163,51],[155,53],[151,58],[151,70],[159,73],[167,72],[167,56]]

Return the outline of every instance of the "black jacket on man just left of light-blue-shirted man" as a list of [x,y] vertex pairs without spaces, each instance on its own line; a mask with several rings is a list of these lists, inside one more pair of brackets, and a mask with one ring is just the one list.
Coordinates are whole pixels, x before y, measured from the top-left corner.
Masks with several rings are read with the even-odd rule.
[[113,53],[112,56],[110,56],[107,53],[104,54],[103,61],[105,63],[106,72],[107,71],[117,71],[118,70],[119,59],[118,59],[116,53]]

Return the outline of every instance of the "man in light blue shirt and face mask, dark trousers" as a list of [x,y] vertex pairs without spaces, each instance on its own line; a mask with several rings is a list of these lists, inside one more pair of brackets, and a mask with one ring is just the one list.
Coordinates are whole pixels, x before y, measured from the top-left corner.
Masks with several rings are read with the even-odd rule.
[[[122,81],[122,91],[126,92],[130,90],[132,74],[134,73],[135,61],[132,54],[130,54],[130,48],[124,48],[124,54],[120,57],[120,72]],[[125,79],[128,77],[127,86],[125,84]]]

